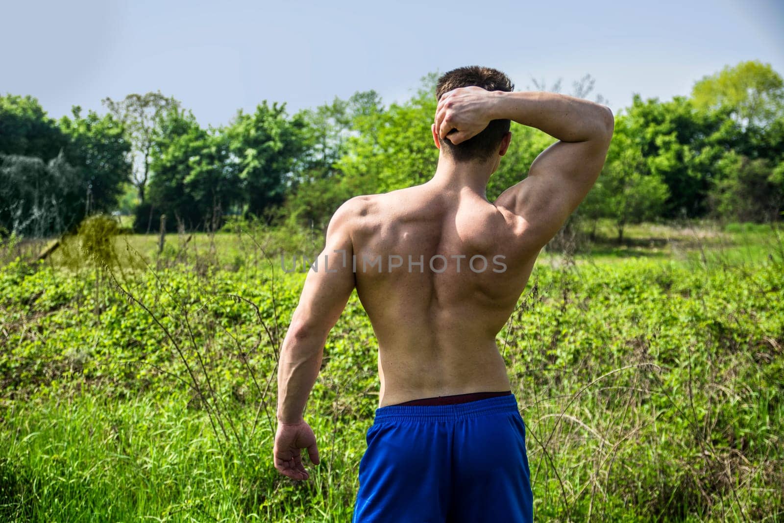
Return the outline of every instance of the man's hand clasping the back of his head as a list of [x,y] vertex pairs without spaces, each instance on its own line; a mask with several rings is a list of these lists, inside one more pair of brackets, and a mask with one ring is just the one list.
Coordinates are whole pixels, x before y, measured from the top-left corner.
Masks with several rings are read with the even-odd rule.
[[441,140],[457,145],[485,130],[492,117],[500,91],[481,87],[459,87],[441,96],[436,109],[435,125]]

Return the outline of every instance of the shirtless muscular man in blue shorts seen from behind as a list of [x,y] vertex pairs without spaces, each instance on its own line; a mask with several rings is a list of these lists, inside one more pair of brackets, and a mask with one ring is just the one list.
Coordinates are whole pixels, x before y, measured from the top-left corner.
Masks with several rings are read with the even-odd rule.
[[[300,480],[301,449],[318,464],[303,409],[356,287],[379,343],[381,389],[354,521],[532,521],[524,424],[495,336],[539,250],[596,181],[613,118],[587,100],[512,90],[488,67],[444,74],[433,178],[341,205],[307,275],[281,350],[274,464]],[[510,120],[559,141],[488,202]]]

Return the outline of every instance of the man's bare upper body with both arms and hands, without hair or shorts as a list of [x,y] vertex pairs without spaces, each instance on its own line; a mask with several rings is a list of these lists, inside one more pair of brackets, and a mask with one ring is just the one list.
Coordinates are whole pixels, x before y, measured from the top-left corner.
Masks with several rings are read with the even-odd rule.
[[[303,409],[328,332],[354,289],[379,342],[381,407],[510,390],[495,336],[539,251],[593,186],[613,119],[607,107],[586,100],[509,91],[468,86],[443,94],[433,125],[441,150],[433,178],[352,198],[332,217],[321,268],[307,276],[281,350],[274,449],[281,474],[308,477],[300,449],[318,463]],[[524,180],[488,202],[485,187],[509,146],[510,120],[558,141]],[[498,134],[497,122],[506,122],[506,131]],[[490,154],[466,161],[469,149],[457,147],[474,136],[497,140]]]

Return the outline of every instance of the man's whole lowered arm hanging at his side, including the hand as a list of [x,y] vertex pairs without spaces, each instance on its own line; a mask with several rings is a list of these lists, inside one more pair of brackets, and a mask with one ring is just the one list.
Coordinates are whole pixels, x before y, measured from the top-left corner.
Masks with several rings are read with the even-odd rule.
[[292,479],[307,479],[301,449],[317,464],[318,448],[303,411],[321,369],[327,335],[346,307],[354,289],[351,257],[353,202],[340,206],[327,227],[326,245],[316,265],[308,271],[299,304],[286,332],[278,361],[278,430],[274,464]]

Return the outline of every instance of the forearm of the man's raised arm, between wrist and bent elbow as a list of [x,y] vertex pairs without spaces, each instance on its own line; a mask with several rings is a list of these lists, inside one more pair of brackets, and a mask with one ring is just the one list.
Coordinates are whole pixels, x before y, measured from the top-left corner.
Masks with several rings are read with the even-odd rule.
[[612,112],[589,100],[544,92],[493,94],[489,111],[494,120],[514,120],[564,142],[585,142],[612,134]]

